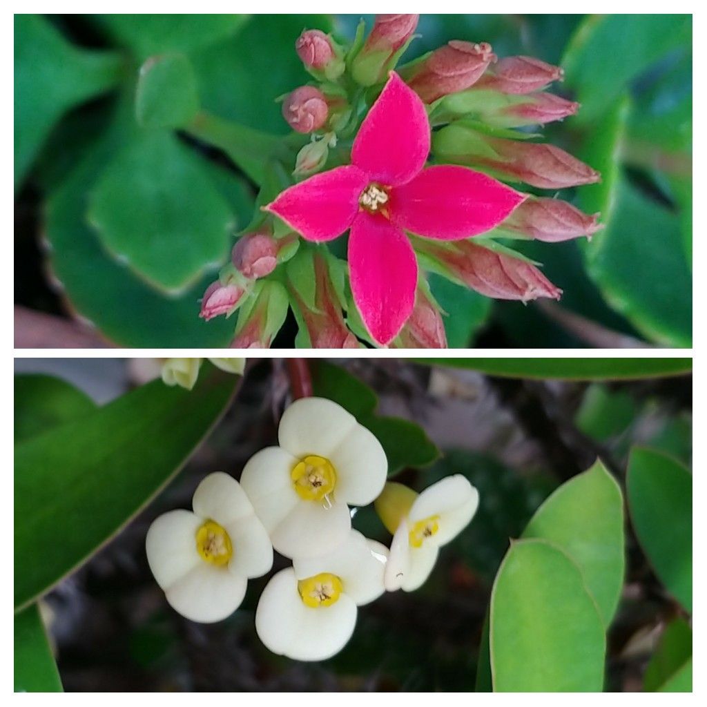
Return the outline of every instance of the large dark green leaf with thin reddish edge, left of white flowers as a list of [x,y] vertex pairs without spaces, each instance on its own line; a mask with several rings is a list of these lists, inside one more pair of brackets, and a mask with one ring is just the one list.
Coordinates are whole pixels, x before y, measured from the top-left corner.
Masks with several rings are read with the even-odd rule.
[[16,445],[16,609],[85,562],[174,477],[239,381],[205,364],[191,392],[155,380]]

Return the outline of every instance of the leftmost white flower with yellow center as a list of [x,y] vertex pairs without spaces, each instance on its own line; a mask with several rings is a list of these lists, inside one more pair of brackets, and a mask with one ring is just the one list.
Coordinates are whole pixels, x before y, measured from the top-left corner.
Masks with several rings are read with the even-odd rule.
[[272,566],[272,546],[238,481],[216,472],[194,492],[194,513],[153,522],[147,561],[167,601],[192,621],[220,621],[238,609],[248,578]]

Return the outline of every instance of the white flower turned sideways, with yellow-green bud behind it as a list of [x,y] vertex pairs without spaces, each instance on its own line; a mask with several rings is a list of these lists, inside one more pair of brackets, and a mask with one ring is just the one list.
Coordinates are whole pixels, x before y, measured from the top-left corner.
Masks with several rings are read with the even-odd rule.
[[389,483],[375,501],[393,534],[385,567],[389,592],[419,588],[430,575],[440,547],[464,530],[479,506],[479,492],[461,474],[432,484],[419,495]]

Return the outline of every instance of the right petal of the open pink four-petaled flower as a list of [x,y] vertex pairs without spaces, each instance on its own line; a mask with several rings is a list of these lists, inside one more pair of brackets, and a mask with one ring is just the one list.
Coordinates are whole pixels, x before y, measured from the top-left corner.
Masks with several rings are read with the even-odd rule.
[[458,240],[498,226],[525,199],[515,189],[466,167],[423,170],[390,194],[390,218],[426,238]]

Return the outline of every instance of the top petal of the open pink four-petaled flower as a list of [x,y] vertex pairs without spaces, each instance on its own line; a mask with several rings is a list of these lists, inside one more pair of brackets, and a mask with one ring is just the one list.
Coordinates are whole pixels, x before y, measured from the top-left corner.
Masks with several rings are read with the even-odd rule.
[[368,111],[351,149],[351,162],[372,181],[409,182],[430,152],[430,122],[419,96],[395,72]]

